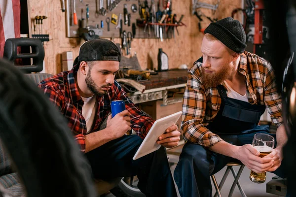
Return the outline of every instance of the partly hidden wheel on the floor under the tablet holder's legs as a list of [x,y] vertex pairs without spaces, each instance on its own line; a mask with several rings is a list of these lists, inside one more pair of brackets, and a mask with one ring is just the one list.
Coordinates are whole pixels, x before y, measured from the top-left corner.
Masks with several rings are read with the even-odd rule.
[[[136,176],[135,176],[136,178]],[[131,187],[129,177],[122,178],[119,184],[110,190],[115,197],[146,197],[136,186]]]

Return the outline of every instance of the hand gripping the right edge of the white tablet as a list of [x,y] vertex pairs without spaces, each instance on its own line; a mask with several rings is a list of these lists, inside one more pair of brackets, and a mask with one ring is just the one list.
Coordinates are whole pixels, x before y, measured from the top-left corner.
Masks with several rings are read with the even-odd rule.
[[180,132],[177,131],[177,125],[173,125],[165,130],[165,133],[158,137],[157,144],[161,144],[166,148],[177,146],[180,141]]

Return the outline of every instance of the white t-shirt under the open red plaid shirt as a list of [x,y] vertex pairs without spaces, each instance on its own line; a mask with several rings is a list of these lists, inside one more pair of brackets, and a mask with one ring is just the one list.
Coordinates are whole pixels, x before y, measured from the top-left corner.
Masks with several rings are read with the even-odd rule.
[[92,129],[94,118],[96,115],[96,108],[97,108],[96,96],[94,95],[89,98],[81,97],[81,99],[84,101],[84,104],[82,106],[82,116],[85,119],[86,132],[88,133]]

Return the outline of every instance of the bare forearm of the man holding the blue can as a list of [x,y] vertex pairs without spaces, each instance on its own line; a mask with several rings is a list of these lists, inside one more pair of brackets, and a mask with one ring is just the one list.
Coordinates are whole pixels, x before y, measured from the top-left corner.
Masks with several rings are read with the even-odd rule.
[[111,141],[113,138],[110,136],[108,129],[104,129],[97,132],[92,132],[85,135],[85,153],[106,144]]

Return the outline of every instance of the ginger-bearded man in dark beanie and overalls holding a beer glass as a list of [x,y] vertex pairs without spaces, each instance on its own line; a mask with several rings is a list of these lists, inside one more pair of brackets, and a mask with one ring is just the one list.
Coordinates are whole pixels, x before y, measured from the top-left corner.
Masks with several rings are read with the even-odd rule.
[[[211,23],[202,40],[202,57],[188,70],[183,100],[182,132],[185,144],[174,177],[182,197],[212,197],[210,175],[229,161],[240,160],[256,173],[285,177],[281,163],[287,136],[282,100],[276,91],[271,65],[244,51],[246,34],[231,17]],[[265,107],[277,126],[276,148],[260,158],[252,146]]]

